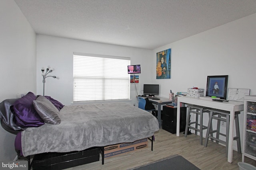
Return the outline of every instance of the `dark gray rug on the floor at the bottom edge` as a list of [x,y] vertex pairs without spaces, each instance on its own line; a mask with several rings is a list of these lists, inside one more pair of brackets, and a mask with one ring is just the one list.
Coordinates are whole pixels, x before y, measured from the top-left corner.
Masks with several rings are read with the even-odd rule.
[[200,170],[180,155],[173,155],[131,170]]

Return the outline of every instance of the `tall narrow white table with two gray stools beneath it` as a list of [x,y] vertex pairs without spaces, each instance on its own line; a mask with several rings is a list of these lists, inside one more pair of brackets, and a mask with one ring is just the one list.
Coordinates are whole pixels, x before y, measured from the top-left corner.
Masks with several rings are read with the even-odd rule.
[[[230,111],[230,123],[229,123],[229,139],[228,140],[228,162],[232,163],[233,157],[233,126],[234,126],[234,118],[235,118],[235,111],[243,111],[244,110],[244,102],[236,102],[236,101],[229,101],[229,102],[216,102],[213,100],[206,100],[206,99],[199,99],[199,98],[192,98],[186,96],[178,97],[177,101],[177,132],[180,131],[180,103],[185,104],[194,104],[198,106],[210,107],[215,109],[221,109]],[[180,136],[179,133],[176,133],[177,136]]]

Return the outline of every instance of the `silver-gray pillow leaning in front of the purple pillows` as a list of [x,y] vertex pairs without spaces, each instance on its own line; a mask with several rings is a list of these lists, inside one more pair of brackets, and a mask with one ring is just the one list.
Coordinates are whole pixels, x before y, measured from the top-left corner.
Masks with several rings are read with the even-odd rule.
[[33,101],[34,108],[45,123],[49,124],[60,124],[60,112],[59,110],[46,99],[44,96],[38,96],[36,100]]

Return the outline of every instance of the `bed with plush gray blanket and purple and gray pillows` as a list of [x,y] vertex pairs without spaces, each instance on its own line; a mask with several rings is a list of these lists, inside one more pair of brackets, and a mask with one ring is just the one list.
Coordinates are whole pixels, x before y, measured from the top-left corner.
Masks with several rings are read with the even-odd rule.
[[[130,143],[152,137],[159,130],[151,113],[125,103],[63,106],[49,96],[34,96],[29,92],[20,99],[7,99],[0,104],[1,124],[11,133],[18,132],[15,148],[25,157]],[[32,116],[29,109],[25,114],[19,113],[24,107],[34,107],[36,111]],[[35,118],[21,120],[24,116]]]

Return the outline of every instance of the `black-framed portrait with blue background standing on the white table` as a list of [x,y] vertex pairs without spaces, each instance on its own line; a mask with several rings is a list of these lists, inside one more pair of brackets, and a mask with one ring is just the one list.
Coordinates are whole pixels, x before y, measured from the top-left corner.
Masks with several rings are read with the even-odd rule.
[[207,76],[206,96],[216,96],[217,98],[227,98],[228,75]]

